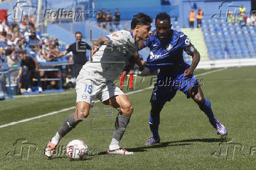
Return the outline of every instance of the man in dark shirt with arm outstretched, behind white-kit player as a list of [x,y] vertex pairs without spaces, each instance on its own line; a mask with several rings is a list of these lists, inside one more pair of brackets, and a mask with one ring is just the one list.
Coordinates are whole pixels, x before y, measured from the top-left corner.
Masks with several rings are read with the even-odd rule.
[[60,53],[58,56],[53,55],[53,57],[59,58],[66,55],[69,52],[73,53],[74,64],[75,64],[75,75],[78,77],[80,70],[83,65],[87,62],[86,59],[86,49],[90,50],[91,47],[86,42],[82,42],[82,33],[75,33],[76,42],[72,43],[64,52]]

